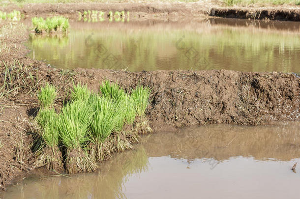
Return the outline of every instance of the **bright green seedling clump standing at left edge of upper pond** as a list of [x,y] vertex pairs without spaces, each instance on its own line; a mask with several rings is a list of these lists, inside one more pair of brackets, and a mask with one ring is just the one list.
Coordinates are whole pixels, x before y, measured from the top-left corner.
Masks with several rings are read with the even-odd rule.
[[69,28],[69,20],[61,16],[46,20],[42,17],[33,17],[31,22],[36,33],[66,33]]

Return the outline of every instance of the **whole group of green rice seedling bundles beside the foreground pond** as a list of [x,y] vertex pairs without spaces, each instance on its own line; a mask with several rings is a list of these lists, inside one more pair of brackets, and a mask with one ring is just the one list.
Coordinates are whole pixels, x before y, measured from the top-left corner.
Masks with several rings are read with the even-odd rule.
[[129,95],[118,84],[105,81],[100,92],[74,85],[70,102],[58,115],[53,109],[55,87],[41,88],[36,116],[40,128],[33,147],[36,167],[58,169],[64,162],[68,173],[95,171],[95,161],[108,159],[111,151],[131,148],[130,142],[138,141],[137,133],[150,131],[145,117],[149,88],[137,86]]

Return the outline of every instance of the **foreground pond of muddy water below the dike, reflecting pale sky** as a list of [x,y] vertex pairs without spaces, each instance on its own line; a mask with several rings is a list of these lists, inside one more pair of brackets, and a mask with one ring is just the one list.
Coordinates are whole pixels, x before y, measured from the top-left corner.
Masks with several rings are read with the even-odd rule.
[[210,125],[143,137],[101,171],[36,173],[4,199],[253,199],[300,195],[300,122]]

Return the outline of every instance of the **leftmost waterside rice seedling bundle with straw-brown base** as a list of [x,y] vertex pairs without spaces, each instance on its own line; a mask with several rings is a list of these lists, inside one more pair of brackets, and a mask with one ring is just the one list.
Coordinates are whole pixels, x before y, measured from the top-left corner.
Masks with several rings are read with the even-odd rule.
[[41,109],[36,116],[40,133],[34,145],[35,167],[61,170],[62,156],[59,145],[58,115],[54,109]]

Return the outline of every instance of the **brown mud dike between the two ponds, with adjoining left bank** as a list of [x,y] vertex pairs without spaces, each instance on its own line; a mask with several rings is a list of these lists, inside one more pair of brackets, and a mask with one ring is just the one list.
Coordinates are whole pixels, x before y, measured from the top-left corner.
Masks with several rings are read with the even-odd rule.
[[[9,6],[5,9],[8,8],[13,9]],[[62,12],[49,9],[46,7],[45,13]],[[140,11],[144,12],[143,9]],[[27,57],[28,49],[23,43],[28,39],[28,28],[16,26],[18,31],[0,37],[1,44],[5,43],[9,49],[0,54],[0,87],[4,85],[6,91],[0,98],[0,139],[5,142],[0,148],[1,190],[13,183],[16,176],[34,169],[30,165],[32,138],[28,131],[38,110],[36,93],[45,82],[60,91],[57,107],[62,106],[73,82],[87,84],[94,91],[98,91],[99,83],[105,79],[118,82],[125,90],[139,83],[149,86],[152,92],[147,117],[156,132],[211,123],[257,125],[300,120],[300,79],[292,73],[60,70]]]

